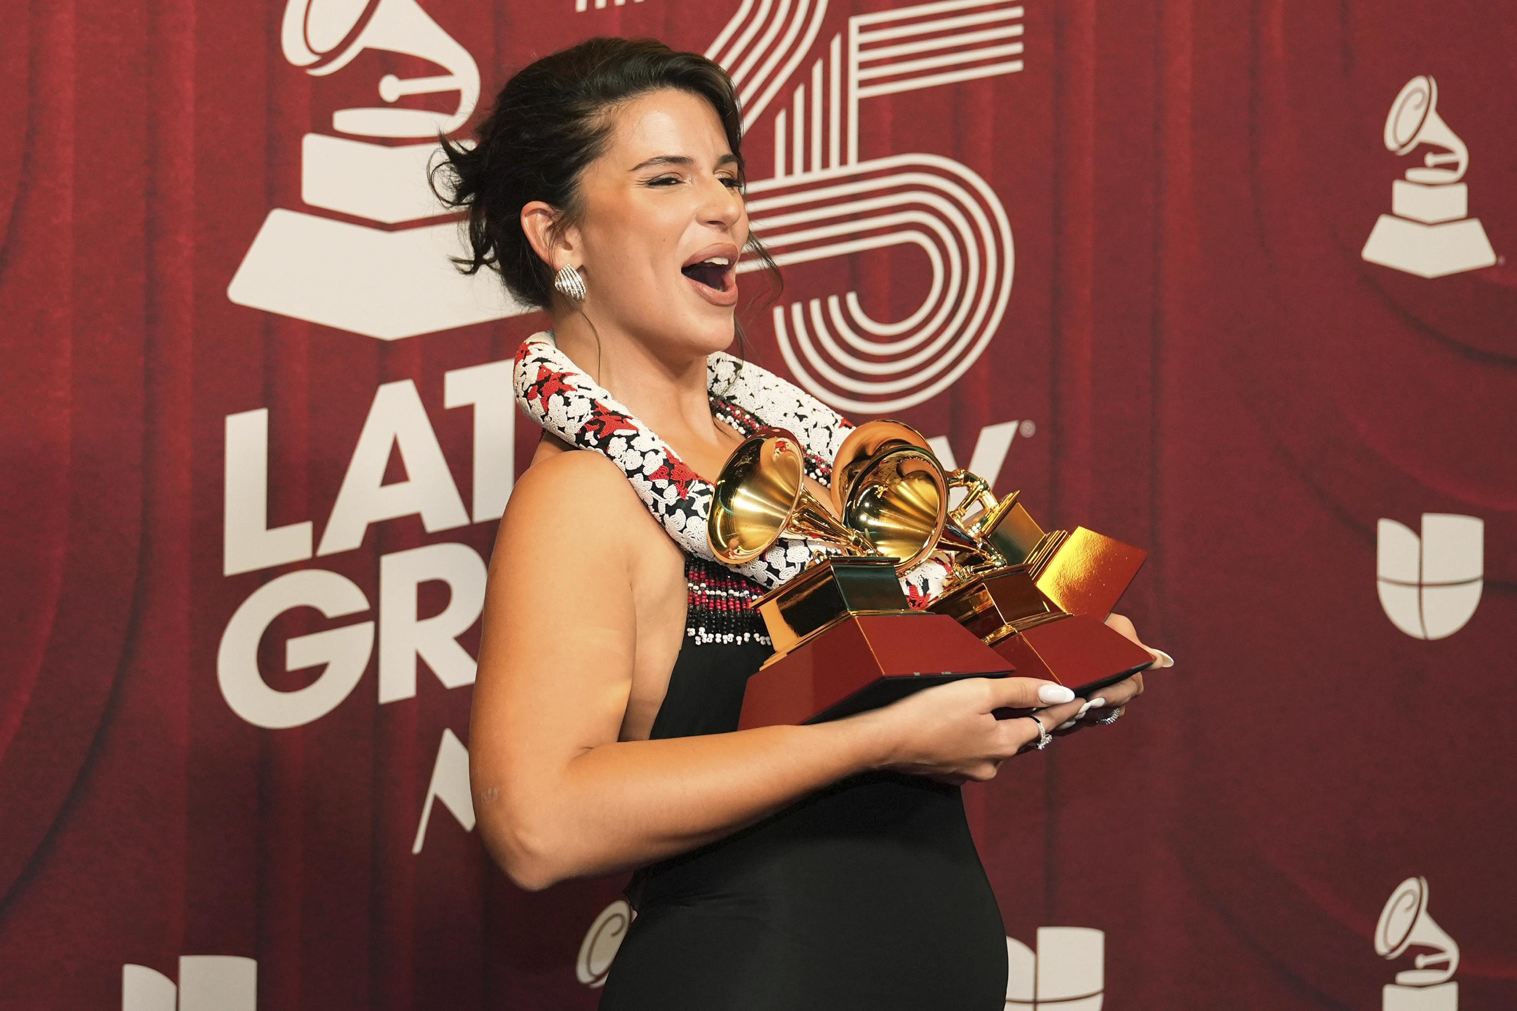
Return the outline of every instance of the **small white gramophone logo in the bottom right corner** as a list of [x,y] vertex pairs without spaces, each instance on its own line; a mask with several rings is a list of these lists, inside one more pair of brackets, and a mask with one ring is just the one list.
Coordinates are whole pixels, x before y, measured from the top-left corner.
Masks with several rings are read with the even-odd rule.
[[1380,991],[1382,1011],[1458,1011],[1459,946],[1427,912],[1427,879],[1408,878],[1391,894],[1374,928],[1374,953],[1396,959],[1409,947],[1431,949],[1412,958],[1415,969],[1396,973]]

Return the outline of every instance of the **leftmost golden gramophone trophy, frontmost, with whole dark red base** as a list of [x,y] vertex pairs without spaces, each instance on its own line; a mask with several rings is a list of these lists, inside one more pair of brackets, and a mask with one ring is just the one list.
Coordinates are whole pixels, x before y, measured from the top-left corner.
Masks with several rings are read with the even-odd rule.
[[[840,552],[754,603],[774,656],[748,679],[739,729],[834,720],[927,685],[1012,671],[953,618],[913,611],[897,559],[839,523],[806,490],[802,474],[795,435],[758,429],[728,458],[711,496],[707,537],[730,565],[762,558],[781,537]],[[901,527],[910,521],[887,518]]]

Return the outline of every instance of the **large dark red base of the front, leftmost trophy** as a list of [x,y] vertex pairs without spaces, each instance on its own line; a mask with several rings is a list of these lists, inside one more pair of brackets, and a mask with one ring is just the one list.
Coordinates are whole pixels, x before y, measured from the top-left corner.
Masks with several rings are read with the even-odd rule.
[[822,723],[1013,667],[942,614],[851,614],[748,679],[737,729]]

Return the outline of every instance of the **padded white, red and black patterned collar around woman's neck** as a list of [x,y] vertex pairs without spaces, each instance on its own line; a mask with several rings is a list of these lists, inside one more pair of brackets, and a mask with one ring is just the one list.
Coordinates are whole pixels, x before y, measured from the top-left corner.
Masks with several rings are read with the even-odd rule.
[[[622,468],[637,497],[687,553],[718,561],[705,537],[711,485],[608,390],[596,383],[552,341],[532,333],[516,353],[516,402],[563,441],[595,450]],[[806,450],[807,473],[831,484],[831,461],[853,423],[799,387],[774,373],[718,352],[707,359],[707,390],[716,417],[739,432],[760,426],[789,429]],[[828,550],[802,538],[781,538],[745,565],[733,565],[763,587],[790,579]],[[942,587],[944,565],[927,561],[903,585],[913,603],[925,603]]]

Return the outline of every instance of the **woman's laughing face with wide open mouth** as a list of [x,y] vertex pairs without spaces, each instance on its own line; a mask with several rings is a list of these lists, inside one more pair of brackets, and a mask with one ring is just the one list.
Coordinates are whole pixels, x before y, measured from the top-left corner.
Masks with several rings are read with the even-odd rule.
[[748,212],[716,109],[661,89],[616,111],[605,153],[579,180],[566,236],[587,317],[655,355],[708,355],[733,340]]

